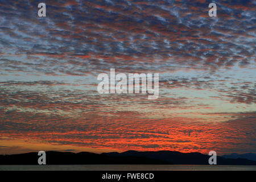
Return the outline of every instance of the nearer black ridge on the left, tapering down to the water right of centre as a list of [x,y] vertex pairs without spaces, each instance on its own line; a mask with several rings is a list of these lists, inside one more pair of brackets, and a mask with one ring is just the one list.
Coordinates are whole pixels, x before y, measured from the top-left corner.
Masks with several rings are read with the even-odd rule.
[[[37,152],[0,155],[0,164],[38,164]],[[165,160],[149,159],[144,156],[108,156],[91,152],[46,152],[46,164],[172,164]]]

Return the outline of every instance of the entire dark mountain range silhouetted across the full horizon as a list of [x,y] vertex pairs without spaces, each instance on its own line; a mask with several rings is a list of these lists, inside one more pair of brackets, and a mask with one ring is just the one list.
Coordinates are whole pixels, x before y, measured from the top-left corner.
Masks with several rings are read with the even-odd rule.
[[[0,164],[38,164],[37,152],[0,155]],[[126,151],[94,154],[91,152],[46,152],[46,164],[201,164],[208,165],[210,156],[199,152],[175,151]],[[256,165],[248,159],[227,159],[217,156],[220,165]]]

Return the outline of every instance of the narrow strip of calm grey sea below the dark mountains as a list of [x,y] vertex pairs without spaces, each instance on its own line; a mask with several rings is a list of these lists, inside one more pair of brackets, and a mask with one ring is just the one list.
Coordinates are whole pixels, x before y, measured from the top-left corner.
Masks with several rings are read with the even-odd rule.
[[0,165],[0,171],[256,171],[256,166],[221,165]]

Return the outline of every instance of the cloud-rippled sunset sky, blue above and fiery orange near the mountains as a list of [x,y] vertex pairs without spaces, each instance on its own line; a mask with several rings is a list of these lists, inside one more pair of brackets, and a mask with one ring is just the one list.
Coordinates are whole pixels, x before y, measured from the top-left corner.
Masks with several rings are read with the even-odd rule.
[[[255,5],[0,0],[0,154],[256,152]],[[158,99],[98,93],[111,68],[159,73]]]

